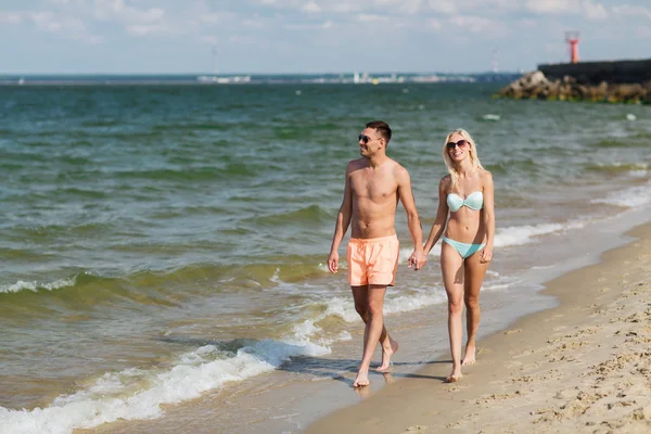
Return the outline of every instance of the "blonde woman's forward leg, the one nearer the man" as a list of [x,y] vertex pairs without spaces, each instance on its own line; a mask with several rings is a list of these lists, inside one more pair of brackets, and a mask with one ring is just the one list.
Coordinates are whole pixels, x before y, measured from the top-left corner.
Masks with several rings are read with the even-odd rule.
[[450,244],[441,246],[441,271],[448,297],[448,333],[452,355],[452,372],[448,381],[461,378],[461,343],[463,340],[463,259]]

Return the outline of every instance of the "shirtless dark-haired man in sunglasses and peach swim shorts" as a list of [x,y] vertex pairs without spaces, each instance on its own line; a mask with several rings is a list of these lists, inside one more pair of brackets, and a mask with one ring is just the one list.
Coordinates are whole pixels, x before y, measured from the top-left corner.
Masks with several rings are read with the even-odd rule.
[[344,200],[340,207],[328,258],[328,268],[339,271],[339,246],[352,226],[347,248],[348,283],[355,309],[366,323],[363,356],[353,386],[369,384],[369,367],[378,343],[382,345],[382,365],[388,369],[391,356],[398,349],[384,328],[383,308],[386,286],[393,286],[398,268],[398,238],[395,214],[398,201],[407,213],[413,253],[409,267],[421,269],[426,258],[422,230],[407,170],[386,156],[391,128],[382,120],[368,123],[358,137],[361,158],[346,167]]

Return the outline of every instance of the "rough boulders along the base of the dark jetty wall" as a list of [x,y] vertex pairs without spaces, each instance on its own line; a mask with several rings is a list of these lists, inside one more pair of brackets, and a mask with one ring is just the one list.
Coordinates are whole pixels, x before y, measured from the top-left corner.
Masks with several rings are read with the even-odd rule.
[[572,76],[548,79],[541,71],[527,73],[499,93],[502,98],[651,104],[651,81],[644,84],[582,84]]

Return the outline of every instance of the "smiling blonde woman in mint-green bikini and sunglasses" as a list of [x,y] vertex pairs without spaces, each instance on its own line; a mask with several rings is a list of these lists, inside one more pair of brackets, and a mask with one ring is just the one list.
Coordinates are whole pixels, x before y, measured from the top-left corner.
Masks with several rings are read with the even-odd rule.
[[[446,381],[451,383],[462,376],[462,365],[475,361],[480,289],[493,257],[495,214],[493,177],[482,167],[475,142],[468,131],[457,129],[447,136],[443,158],[449,175],[443,177],[438,184],[438,212],[424,252],[429,254],[443,234],[441,270],[448,297],[448,333],[452,354],[452,372]],[[467,308],[468,343],[465,355],[461,358],[463,304]]]

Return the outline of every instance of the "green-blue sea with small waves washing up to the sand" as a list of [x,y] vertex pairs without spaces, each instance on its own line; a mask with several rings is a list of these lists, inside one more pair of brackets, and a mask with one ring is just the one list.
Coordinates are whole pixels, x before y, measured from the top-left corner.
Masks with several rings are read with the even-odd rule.
[[447,362],[441,247],[409,269],[399,206],[400,348],[352,387],[345,242],[341,271],[326,263],[370,120],[393,128],[424,237],[445,137],[474,137],[497,227],[480,336],[651,219],[651,106],[496,99],[506,81],[72,81],[0,86],[3,434],[299,433]]

